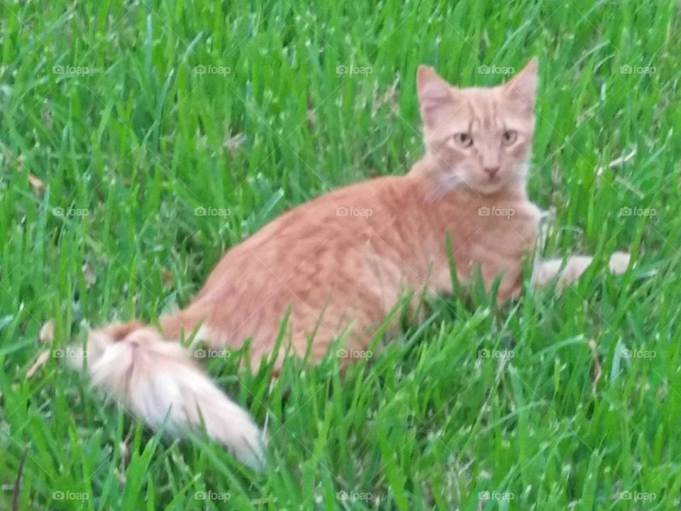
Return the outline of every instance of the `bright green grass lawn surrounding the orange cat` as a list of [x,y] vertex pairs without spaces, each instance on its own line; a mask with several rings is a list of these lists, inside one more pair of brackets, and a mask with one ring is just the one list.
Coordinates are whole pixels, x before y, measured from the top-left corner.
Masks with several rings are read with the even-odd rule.
[[[677,2],[315,4],[1,3],[0,508],[21,473],[19,510],[676,509]],[[204,439],[151,434],[63,357],[25,377],[48,319],[55,351],[111,319],[153,320],[287,207],[404,173],[422,152],[419,63],[484,85],[503,77],[481,65],[532,55],[530,192],[556,210],[545,252],[601,259],[563,296],[436,301],[344,380],[333,356],[272,383],[237,371],[238,353],[211,361],[267,417],[260,474]],[[350,65],[371,72],[338,74]],[[615,249],[636,260],[618,278],[602,271]],[[513,356],[484,356],[500,351]]]

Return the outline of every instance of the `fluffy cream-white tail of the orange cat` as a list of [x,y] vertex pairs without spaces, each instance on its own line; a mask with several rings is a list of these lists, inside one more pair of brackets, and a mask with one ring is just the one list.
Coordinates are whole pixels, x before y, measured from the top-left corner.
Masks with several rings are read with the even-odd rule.
[[133,415],[172,434],[201,429],[246,465],[263,463],[265,434],[227,397],[177,341],[139,323],[90,332],[88,371]]

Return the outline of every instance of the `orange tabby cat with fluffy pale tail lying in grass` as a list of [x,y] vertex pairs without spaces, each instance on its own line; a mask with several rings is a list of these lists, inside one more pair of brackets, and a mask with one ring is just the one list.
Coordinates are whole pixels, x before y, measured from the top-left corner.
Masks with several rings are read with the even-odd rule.
[[[452,291],[447,235],[460,282],[479,265],[488,286],[502,275],[500,301],[516,296],[540,216],[526,194],[536,83],[535,59],[492,88],[451,87],[420,67],[426,154],[407,175],[336,189],[282,214],[231,248],[185,309],[160,318],[161,331],[138,322],[92,331],[94,381],[155,427],[167,422],[179,432],[203,422],[258,466],[265,437],[194,365],[178,342],[183,333],[199,329],[196,338],[211,348],[238,348],[250,337],[257,368],[290,307],[289,351],[304,356],[312,334],[314,359],[338,336],[348,353],[365,350],[404,292]],[[574,280],[590,261],[541,263],[535,281]],[[611,268],[628,263],[616,254]]]

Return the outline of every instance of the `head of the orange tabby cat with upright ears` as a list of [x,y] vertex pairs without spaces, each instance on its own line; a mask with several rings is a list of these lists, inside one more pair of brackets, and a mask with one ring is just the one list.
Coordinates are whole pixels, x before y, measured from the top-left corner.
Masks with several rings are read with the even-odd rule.
[[442,192],[466,186],[492,194],[525,185],[536,85],[536,57],[498,87],[460,89],[431,67],[419,67],[426,158]]

